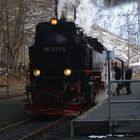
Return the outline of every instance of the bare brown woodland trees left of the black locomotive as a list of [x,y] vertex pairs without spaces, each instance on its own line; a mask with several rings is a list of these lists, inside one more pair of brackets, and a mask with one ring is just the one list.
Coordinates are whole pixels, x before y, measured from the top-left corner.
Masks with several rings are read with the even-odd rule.
[[36,24],[50,19],[51,0],[1,0],[0,7],[0,62],[11,69],[28,61],[27,46]]

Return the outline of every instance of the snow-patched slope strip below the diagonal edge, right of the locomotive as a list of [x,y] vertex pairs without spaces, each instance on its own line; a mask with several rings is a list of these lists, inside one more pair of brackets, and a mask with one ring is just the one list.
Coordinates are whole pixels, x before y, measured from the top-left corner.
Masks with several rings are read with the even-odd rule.
[[136,45],[128,43],[119,36],[97,26],[92,26],[91,36],[97,38],[108,50],[113,50],[115,56],[129,64],[140,61],[140,51]]

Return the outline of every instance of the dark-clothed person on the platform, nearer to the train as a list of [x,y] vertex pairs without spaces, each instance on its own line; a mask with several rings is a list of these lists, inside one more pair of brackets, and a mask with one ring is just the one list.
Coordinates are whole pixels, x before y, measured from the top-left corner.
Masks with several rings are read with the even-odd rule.
[[[121,68],[118,67],[117,62],[115,62],[114,71],[115,71],[115,80],[120,80],[121,79]],[[120,94],[120,86],[121,86],[121,84],[117,83],[117,87],[116,87],[117,95]]]

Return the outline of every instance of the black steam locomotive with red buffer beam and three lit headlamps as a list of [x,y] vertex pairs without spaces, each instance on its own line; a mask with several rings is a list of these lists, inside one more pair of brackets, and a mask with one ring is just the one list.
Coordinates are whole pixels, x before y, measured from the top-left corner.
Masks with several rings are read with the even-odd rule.
[[79,115],[94,105],[104,81],[104,46],[86,36],[74,22],[41,22],[29,47],[27,112]]

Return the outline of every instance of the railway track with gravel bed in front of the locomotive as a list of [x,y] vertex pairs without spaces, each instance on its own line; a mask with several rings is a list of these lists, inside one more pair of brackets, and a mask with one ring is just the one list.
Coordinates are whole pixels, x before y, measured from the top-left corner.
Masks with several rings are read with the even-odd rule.
[[47,135],[50,129],[62,125],[65,118],[55,118],[53,120],[32,117],[13,125],[0,129],[2,140],[34,140],[42,135]]

